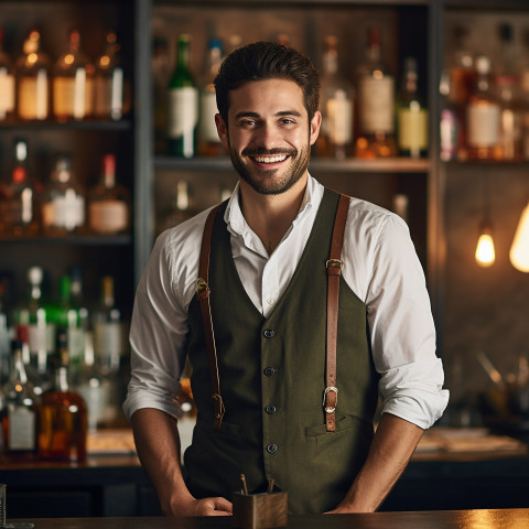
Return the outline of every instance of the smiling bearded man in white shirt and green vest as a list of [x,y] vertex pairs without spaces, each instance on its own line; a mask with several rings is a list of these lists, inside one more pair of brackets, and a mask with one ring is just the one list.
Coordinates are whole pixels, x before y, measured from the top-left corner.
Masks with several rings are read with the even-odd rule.
[[[210,322],[196,292],[204,212],[158,239],[138,287],[125,403],[138,454],[168,516],[229,515],[241,472],[250,490],[274,479],[291,512],[374,511],[447,402],[408,228],[350,201],[337,389],[328,386],[326,261],[338,194],[307,172],[321,126],[317,73],[296,51],[260,42],[226,58],[216,90],[218,134],[239,182],[206,245]],[[184,481],[174,397],[186,355],[198,418]],[[330,392],[337,402],[322,406]]]

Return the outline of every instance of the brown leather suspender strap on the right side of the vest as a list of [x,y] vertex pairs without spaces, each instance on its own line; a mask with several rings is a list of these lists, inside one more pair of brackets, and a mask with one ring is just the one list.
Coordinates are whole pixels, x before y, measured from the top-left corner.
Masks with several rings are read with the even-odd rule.
[[325,409],[325,425],[327,432],[336,430],[336,404],[338,402],[338,389],[336,388],[336,342],[338,337],[338,294],[339,276],[344,268],[339,259],[344,242],[345,222],[349,207],[349,197],[341,195],[336,218],[334,220],[333,239],[331,241],[331,255],[326,262],[327,267],[327,342],[326,342],[326,388],[323,395],[323,408]]

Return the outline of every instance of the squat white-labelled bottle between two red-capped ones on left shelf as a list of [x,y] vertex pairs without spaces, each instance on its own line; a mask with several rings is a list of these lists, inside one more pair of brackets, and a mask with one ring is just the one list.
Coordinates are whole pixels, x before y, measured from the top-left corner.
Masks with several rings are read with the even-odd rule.
[[42,204],[42,228],[46,235],[64,236],[85,227],[85,196],[66,154],[57,158]]

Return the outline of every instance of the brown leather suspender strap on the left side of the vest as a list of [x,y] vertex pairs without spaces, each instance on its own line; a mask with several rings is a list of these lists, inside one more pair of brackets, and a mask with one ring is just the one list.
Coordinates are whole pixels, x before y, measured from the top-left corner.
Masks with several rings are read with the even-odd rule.
[[209,304],[210,290],[207,283],[209,279],[209,251],[212,246],[213,225],[215,224],[215,217],[217,216],[218,208],[219,206],[215,206],[209,212],[206,224],[204,226],[204,234],[202,236],[201,246],[201,259],[198,264],[198,279],[196,281],[196,296],[198,298],[201,304],[202,321],[204,323],[204,333],[207,345],[207,356],[209,358],[209,370],[212,374],[214,430],[220,429],[220,423],[223,422],[223,417],[226,411],[224,408],[223,398],[220,396],[220,379],[218,376],[217,349],[215,347],[212,307]]

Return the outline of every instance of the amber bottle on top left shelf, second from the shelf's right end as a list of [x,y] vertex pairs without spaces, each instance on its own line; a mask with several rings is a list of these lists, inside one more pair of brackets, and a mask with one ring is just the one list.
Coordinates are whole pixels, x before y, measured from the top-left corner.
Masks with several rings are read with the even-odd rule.
[[68,51],[55,64],[53,114],[61,122],[83,120],[94,112],[94,65],[79,47],[79,32],[73,30]]

